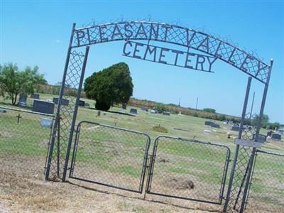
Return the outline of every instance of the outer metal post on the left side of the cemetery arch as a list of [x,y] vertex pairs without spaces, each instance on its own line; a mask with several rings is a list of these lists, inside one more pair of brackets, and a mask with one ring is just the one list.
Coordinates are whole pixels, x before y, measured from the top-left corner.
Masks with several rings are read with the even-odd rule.
[[58,98],[58,109],[57,109],[57,112],[56,112],[55,122],[54,122],[54,126],[53,126],[53,134],[52,134],[51,141],[50,141],[50,150],[48,152],[49,153],[48,165],[46,166],[45,180],[48,180],[48,178],[49,178],[50,165],[51,165],[51,160],[53,158],[53,148],[54,148],[54,143],[55,143],[55,135],[56,135],[56,131],[58,129],[58,121],[60,119],[61,100],[62,100],[62,97],[63,97],[64,88],[65,88],[65,79],[66,79],[69,60],[70,60],[70,54],[71,54],[71,49],[72,49],[72,42],[73,42],[73,36],[74,36],[74,32],[75,32],[75,26],[76,26],[76,23],[73,23],[72,31],[71,31],[71,35],[70,35],[69,47],[68,47],[68,51],[67,51],[67,57],[66,57],[66,61],[65,61],[63,77],[62,77],[62,84],[61,84],[60,94],[59,94],[59,98]]

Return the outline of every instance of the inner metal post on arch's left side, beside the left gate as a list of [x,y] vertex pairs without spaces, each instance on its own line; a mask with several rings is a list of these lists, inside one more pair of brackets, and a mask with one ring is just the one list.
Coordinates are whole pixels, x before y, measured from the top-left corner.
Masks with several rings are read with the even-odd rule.
[[71,149],[72,138],[73,138],[73,133],[74,133],[74,129],[75,129],[75,122],[76,122],[76,118],[77,118],[77,111],[78,111],[78,106],[79,106],[79,101],[80,101],[80,94],[81,94],[82,84],[83,84],[83,80],[84,80],[84,71],[86,70],[88,55],[89,55],[89,46],[86,47],[86,50],[85,50],[85,53],[84,53],[84,62],[83,62],[83,66],[82,66],[80,83],[79,83],[77,98],[76,98],[76,102],[75,102],[75,109],[74,109],[71,128],[70,128],[70,136],[69,136],[69,141],[68,141],[68,146],[67,146],[65,165],[64,165],[64,168],[63,168],[62,182],[65,182],[65,180],[66,180],[66,173],[67,173],[68,161],[69,161],[69,156],[70,156],[70,149]]

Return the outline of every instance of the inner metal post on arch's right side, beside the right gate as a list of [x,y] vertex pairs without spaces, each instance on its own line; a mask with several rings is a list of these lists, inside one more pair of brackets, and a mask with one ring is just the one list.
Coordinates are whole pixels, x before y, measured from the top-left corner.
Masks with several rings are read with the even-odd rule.
[[[245,118],[246,118],[246,108],[248,106],[249,92],[250,92],[250,89],[251,89],[251,79],[252,78],[249,77],[248,83],[246,85],[246,96],[244,98],[244,107],[243,107],[243,112],[241,114],[241,125],[240,125],[239,136],[238,136],[239,139],[241,138],[241,134],[243,132],[244,121],[245,121]],[[226,209],[228,207],[229,200],[230,200],[231,187],[233,185],[234,172],[236,170],[236,161],[238,160],[238,155],[239,155],[239,145],[236,145],[236,152],[235,152],[235,155],[234,155],[234,163],[233,163],[233,166],[231,168],[230,180],[229,180],[229,185],[228,185],[228,192],[226,194],[226,202],[224,204],[224,209],[223,209],[224,212],[226,212]]]

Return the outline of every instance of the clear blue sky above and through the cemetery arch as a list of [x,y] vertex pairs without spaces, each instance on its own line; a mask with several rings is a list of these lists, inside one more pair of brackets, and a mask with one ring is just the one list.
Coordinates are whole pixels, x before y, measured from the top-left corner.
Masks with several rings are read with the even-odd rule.
[[[62,81],[72,23],[77,28],[125,19],[149,19],[204,31],[273,58],[265,114],[284,124],[284,1],[4,1],[0,0],[0,64],[38,65],[50,84]],[[155,45],[166,46],[164,43]],[[92,45],[85,77],[117,62],[131,70],[133,97],[241,116],[248,76],[217,61],[214,73],[189,70],[122,55],[124,42]],[[173,48],[173,46],[171,46]],[[253,80],[249,98],[258,114],[263,84]]]

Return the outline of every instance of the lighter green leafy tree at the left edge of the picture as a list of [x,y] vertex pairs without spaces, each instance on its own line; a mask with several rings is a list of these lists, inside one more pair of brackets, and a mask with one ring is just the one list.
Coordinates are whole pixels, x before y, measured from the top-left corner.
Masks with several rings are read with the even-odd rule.
[[18,94],[31,94],[39,84],[45,84],[43,74],[38,73],[38,67],[26,67],[19,71],[16,64],[0,66],[0,95],[10,98],[12,104],[16,104]]

